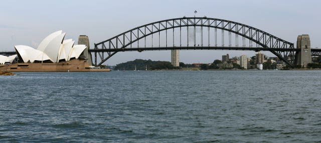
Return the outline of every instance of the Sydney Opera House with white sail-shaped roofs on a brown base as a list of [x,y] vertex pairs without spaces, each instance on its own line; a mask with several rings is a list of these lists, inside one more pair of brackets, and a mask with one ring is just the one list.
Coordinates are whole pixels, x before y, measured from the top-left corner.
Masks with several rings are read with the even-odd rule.
[[[37,48],[14,46],[17,55],[0,56],[0,70],[17,71],[94,71],[86,45],[75,45],[72,39],[64,39],[66,33],[57,31],[47,36]],[[89,43],[89,41],[88,41]],[[17,58],[16,58],[17,57]],[[13,63],[14,60],[17,63]],[[90,62],[89,62],[90,61]],[[97,70],[97,69],[96,69]]]

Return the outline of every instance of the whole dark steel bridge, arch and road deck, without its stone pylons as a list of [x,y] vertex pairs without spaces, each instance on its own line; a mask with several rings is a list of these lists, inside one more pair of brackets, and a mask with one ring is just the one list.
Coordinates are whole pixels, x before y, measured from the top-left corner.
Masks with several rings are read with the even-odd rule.
[[[95,43],[93,64],[99,66],[118,52],[158,50],[251,50],[269,51],[290,66],[300,48],[254,27],[215,18],[183,17],[142,25],[105,41]],[[321,56],[321,49],[310,49]],[[13,55],[16,52],[0,52]]]

